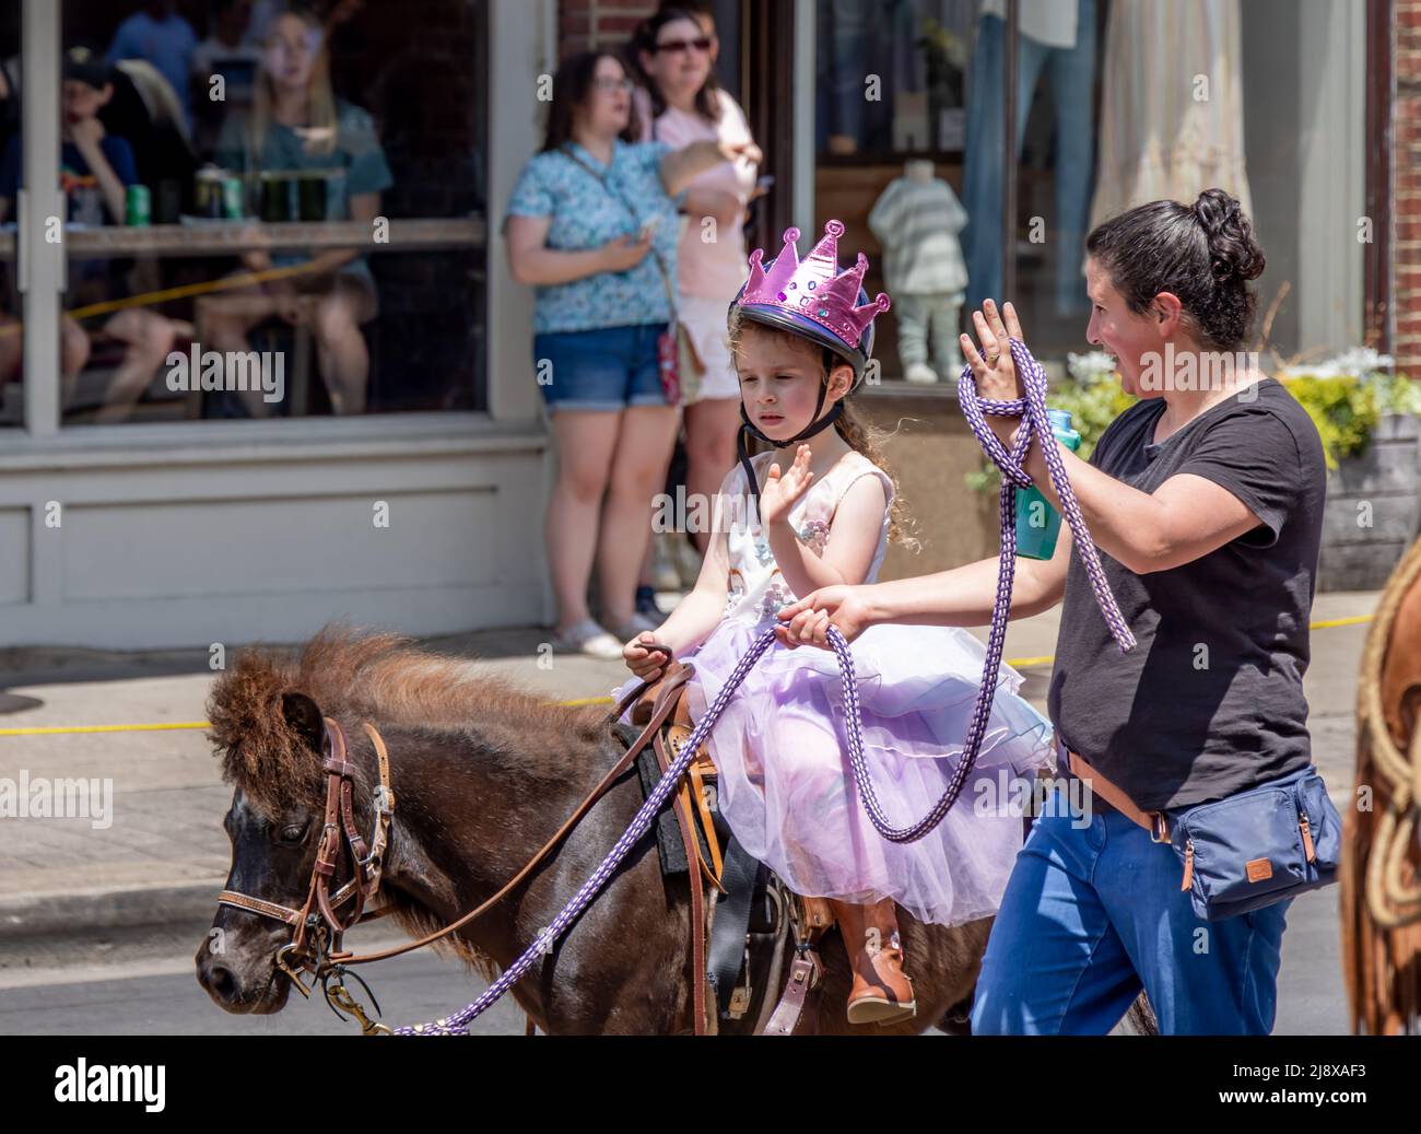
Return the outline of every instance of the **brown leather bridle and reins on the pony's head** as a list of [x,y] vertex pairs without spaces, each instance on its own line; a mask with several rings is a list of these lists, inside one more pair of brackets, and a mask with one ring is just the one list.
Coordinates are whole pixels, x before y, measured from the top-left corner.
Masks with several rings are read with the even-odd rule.
[[[666,654],[669,657],[669,651],[666,651]],[[611,770],[608,770],[607,774],[598,780],[597,786],[593,787],[593,790],[583,799],[573,814],[568,816],[567,821],[557,828],[553,837],[549,838],[549,841],[539,848],[527,864],[524,864],[517,874],[504,882],[503,887],[493,894],[493,897],[480,902],[456,921],[449,922],[442,929],[426,934],[418,941],[409,941],[404,945],[382,949],[379,952],[355,955],[341,949],[342,936],[351,927],[384,917],[391,908],[389,905],[384,905],[378,909],[371,909],[368,907],[379,891],[381,871],[385,864],[385,853],[389,847],[389,826],[395,813],[395,794],[389,786],[389,753],[385,749],[385,742],[379,732],[375,730],[374,725],[362,722],[371,743],[375,746],[375,755],[379,760],[379,784],[371,796],[372,810],[375,811],[375,823],[369,841],[364,840],[355,824],[352,789],[355,773],[360,769],[347,760],[348,749],[345,743],[345,733],[341,726],[328,716],[323,718],[325,720],[325,760],[323,763],[323,769],[327,774],[325,819],[321,828],[321,841],[315,850],[315,864],[311,868],[311,881],[307,887],[304,905],[300,908],[281,905],[279,902],[267,901],[266,898],[254,898],[247,894],[242,894],[236,890],[223,890],[217,895],[217,904],[246,909],[252,914],[259,914],[261,917],[273,918],[274,921],[291,925],[294,929],[291,941],[277,949],[273,965],[280,972],[286,973],[291,979],[291,983],[296,985],[297,990],[300,990],[300,993],[306,998],[310,998],[311,989],[315,986],[315,982],[320,981],[325,999],[331,1005],[331,1009],[335,1010],[335,1015],[340,1016],[340,1009],[345,1009],[357,1017],[361,1029],[367,1035],[388,1033],[389,1029],[382,1023],[371,1020],[360,1003],[357,1003],[345,990],[341,982],[342,978],[345,975],[354,976],[354,979],[361,983],[367,995],[369,995],[374,1002],[374,993],[369,992],[369,986],[354,973],[347,973],[347,966],[365,965],[372,961],[385,961],[392,956],[399,956],[401,954],[421,949],[425,945],[431,945],[482,917],[514,887],[524,881],[529,874],[531,874],[533,870],[571,833],[571,830],[581,823],[581,820],[607,793],[612,783],[615,783],[615,780],[632,765],[637,759],[637,753],[651,743],[657,730],[662,726],[662,723],[665,723],[666,718],[671,716],[675,709],[676,693],[681,686],[689,681],[693,671],[689,665],[679,669],[671,666],[668,668],[674,669],[674,672],[668,672],[666,676],[657,682],[657,701],[647,726],[631,743],[621,759],[612,765]],[[647,689],[651,688],[651,685],[652,682],[642,682],[627,693],[612,711],[611,720],[618,720],[627,708],[641,698]],[[341,857],[342,841],[351,857],[352,877],[348,882],[345,882],[345,885],[331,894],[331,880]],[[345,919],[342,919],[338,911],[351,900],[355,902],[352,911]],[[310,985],[306,985],[301,981],[301,975],[306,972],[311,973]],[[334,983],[331,983],[333,981]],[[375,1012],[379,1012],[378,1002],[375,1002]]]

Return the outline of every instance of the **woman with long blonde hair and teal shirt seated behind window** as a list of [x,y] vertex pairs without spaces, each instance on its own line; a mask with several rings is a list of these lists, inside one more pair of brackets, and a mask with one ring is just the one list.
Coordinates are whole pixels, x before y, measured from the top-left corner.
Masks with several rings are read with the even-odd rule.
[[[288,180],[263,173],[314,171],[314,188],[328,220],[360,220],[371,229],[379,215],[379,195],[394,185],[369,114],[331,91],[330,60],[321,23],[308,13],[287,11],[267,33],[249,114],[227,118],[217,146],[217,163],[249,175],[260,195],[280,193],[263,215],[297,219],[291,202],[300,193]],[[311,183],[303,186],[307,198]],[[310,200],[308,200],[310,203]],[[202,335],[219,351],[246,351],[247,331],[271,315],[296,323],[307,315],[315,335],[321,375],[337,414],[365,408],[369,352],[361,324],[377,314],[375,279],[365,257],[352,249],[311,253],[252,252],[249,270],[301,266],[290,276],[226,293],[243,297],[225,310],[213,303]],[[254,297],[263,301],[252,303]],[[303,301],[303,297],[308,297]],[[253,415],[270,412],[260,392],[244,398]]]

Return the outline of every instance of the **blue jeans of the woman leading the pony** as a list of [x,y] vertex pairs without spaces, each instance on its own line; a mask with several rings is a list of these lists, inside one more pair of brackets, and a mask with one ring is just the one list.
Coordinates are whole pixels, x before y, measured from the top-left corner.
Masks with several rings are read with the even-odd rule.
[[1201,921],[1174,850],[1114,810],[1086,823],[1054,792],[992,925],[975,1035],[1104,1035],[1144,988],[1164,1035],[1268,1035],[1285,900]]

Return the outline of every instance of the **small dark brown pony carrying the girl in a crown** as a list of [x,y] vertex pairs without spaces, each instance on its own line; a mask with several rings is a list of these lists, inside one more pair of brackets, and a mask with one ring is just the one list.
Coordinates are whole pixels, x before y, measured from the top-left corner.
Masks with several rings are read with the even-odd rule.
[[[362,831],[371,828],[378,773],[361,722],[379,729],[396,800],[381,895],[411,935],[438,929],[496,892],[624,752],[601,709],[558,706],[405,638],[345,628],[327,628],[294,659],[244,651],[216,681],[207,712],[223,777],[234,787],[225,820],[232,838],[227,888],[293,907],[304,902],[321,827],[321,716],[341,725],[350,760],[362,770],[355,792]],[[632,769],[526,882],[443,951],[485,978],[510,965],[601,863],[641,803]],[[338,874],[333,888],[342,881]],[[899,918],[918,1015],[888,1027],[848,1025],[848,958],[831,932],[820,944],[820,1033],[921,1032],[968,1002],[990,919],[948,929],[904,911]],[[227,1012],[279,1012],[290,988],[273,959],[290,928],[226,905],[213,927],[223,934],[209,934],[198,951],[199,983]],[[223,948],[213,954],[209,944],[217,936]],[[512,996],[551,1035],[689,1032],[688,941],[689,890],[681,877],[662,875],[648,833]],[[450,998],[458,995],[450,989]],[[722,1022],[720,1030],[750,1030],[763,995],[757,989],[750,1012]],[[459,1006],[450,999],[450,1010]]]

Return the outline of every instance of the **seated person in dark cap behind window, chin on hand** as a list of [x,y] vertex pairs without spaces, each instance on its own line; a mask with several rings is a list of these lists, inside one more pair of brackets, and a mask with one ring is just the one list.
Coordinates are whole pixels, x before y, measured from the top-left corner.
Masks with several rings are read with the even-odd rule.
[[[64,58],[64,134],[60,152],[60,183],[68,202],[68,220],[84,225],[122,225],[126,192],[138,182],[132,146],[124,138],[107,134],[98,112],[114,97],[112,72],[99,57],[85,48],[72,48]],[[0,220],[14,213],[23,148],[16,134],[0,158]],[[27,217],[43,225],[43,217]],[[111,300],[126,290],[111,260],[71,260],[68,264],[70,301],[87,306]],[[95,422],[117,422],[128,416],[153,374],[172,350],[173,324],[145,307],[131,307],[111,315],[99,334],[124,344],[124,360],[104,395]],[[90,357],[90,338],[71,315],[63,321],[60,372],[63,402],[68,404],[75,379]],[[20,368],[18,334],[0,334],[0,382]]]

